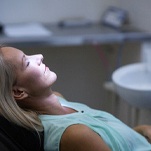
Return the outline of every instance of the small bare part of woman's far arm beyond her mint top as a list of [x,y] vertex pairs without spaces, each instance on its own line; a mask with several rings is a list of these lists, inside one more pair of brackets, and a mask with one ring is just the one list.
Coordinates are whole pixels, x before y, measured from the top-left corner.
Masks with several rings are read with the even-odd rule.
[[143,135],[149,143],[151,143],[151,126],[150,125],[140,125],[137,127],[134,127],[134,130],[136,130],[138,133]]

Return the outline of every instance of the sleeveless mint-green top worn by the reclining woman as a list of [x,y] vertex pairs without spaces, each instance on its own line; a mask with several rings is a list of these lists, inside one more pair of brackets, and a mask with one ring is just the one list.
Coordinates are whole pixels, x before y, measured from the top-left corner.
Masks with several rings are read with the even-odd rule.
[[147,140],[109,113],[68,102],[59,97],[62,106],[78,112],[66,115],[39,115],[44,126],[45,151],[59,151],[62,134],[73,124],[84,124],[98,133],[112,151],[151,151]]

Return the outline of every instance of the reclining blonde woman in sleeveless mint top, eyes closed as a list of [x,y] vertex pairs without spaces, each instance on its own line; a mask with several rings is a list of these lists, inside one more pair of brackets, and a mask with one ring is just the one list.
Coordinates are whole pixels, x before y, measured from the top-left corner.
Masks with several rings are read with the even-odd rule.
[[1,47],[1,115],[44,130],[46,151],[151,151],[150,126],[138,126],[136,132],[109,113],[69,102],[52,91],[56,79],[41,54]]

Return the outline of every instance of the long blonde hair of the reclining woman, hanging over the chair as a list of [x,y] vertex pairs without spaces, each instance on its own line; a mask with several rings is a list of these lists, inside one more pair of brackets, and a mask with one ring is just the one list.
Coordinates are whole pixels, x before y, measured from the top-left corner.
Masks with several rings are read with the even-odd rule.
[[15,67],[3,57],[0,50],[0,114],[26,129],[43,131],[38,114],[22,109],[14,99],[12,88],[15,81]]

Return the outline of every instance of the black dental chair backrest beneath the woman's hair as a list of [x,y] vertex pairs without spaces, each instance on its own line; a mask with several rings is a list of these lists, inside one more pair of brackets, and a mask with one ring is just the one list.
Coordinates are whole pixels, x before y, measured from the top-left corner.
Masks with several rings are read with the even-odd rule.
[[1,151],[44,151],[43,133],[40,133],[40,139],[37,132],[15,125],[0,116]]

